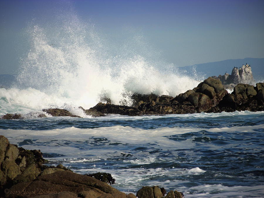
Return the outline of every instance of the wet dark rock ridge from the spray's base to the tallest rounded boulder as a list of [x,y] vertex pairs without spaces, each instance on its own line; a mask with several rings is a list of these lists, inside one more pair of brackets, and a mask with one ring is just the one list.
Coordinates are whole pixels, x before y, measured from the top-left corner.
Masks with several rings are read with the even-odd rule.
[[133,107],[98,103],[91,109],[104,114],[161,115],[209,111],[227,94],[221,81],[209,77],[192,90],[176,97],[155,94],[133,94]]

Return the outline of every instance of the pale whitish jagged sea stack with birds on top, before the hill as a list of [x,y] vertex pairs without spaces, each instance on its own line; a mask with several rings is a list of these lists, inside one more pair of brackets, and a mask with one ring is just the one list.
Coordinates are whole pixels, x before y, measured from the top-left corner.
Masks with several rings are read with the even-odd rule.
[[251,71],[250,65],[242,65],[242,67],[234,67],[231,75],[225,73],[223,76],[219,75],[218,77],[212,76],[213,78],[219,78],[223,85],[226,85],[226,88],[234,88],[238,83],[243,84],[253,84],[254,78]]

